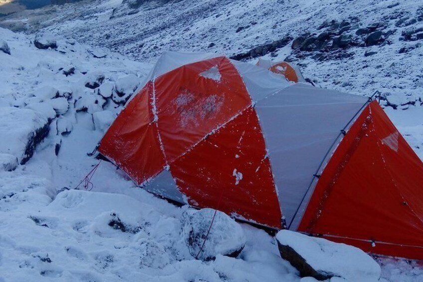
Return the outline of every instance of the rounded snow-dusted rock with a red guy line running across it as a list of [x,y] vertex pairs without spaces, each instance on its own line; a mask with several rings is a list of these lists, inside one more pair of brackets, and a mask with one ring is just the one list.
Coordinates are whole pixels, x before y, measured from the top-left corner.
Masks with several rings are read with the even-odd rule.
[[198,259],[212,260],[217,255],[237,257],[245,246],[245,236],[242,228],[226,214],[217,211],[212,228],[206,239],[207,232],[215,210],[188,209],[181,217],[181,235],[187,243],[190,254]]

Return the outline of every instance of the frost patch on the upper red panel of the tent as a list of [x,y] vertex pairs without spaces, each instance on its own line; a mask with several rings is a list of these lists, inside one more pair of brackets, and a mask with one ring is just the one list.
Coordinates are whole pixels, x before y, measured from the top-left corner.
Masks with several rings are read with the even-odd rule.
[[203,120],[212,119],[223,105],[223,95],[205,96],[182,88],[174,100],[182,127],[198,127]]

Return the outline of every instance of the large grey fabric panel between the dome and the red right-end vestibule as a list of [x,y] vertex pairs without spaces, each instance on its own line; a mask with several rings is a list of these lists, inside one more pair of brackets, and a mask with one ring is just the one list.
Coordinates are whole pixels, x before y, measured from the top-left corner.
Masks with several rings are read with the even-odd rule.
[[366,101],[297,83],[255,105],[288,224],[326,152]]

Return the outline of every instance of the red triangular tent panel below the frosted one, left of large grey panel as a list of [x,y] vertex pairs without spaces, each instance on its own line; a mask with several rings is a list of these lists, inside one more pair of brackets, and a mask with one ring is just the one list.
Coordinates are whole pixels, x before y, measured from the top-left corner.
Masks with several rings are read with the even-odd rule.
[[171,173],[192,206],[281,228],[270,162],[251,107],[176,159]]

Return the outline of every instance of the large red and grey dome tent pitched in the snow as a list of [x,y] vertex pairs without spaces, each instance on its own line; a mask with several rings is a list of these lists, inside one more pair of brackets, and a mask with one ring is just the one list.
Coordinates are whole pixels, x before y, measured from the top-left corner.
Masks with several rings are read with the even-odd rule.
[[99,151],[174,201],[423,259],[423,163],[367,97],[169,52]]

